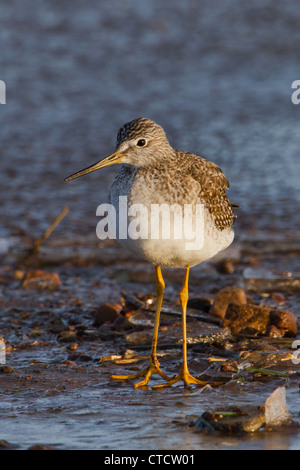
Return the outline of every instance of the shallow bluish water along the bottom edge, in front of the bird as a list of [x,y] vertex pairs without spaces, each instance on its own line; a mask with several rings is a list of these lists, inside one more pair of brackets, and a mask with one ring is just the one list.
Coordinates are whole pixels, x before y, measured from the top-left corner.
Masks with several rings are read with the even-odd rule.
[[[1,421],[5,438],[18,443],[20,449],[28,448],[33,442],[58,449],[299,449],[296,433],[211,436],[189,427],[189,422],[201,414],[207,402],[214,400],[218,405],[228,405],[238,398],[242,403],[248,393],[243,389],[224,394],[224,391],[183,392],[176,388],[133,393],[124,385],[113,388],[109,384],[94,385],[80,392],[65,393],[55,399],[55,404],[53,397],[15,399],[18,408],[14,413],[5,412],[4,406],[10,403],[4,400]],[[259,398],[263,396],[260,392]],[[257,400],[255,394],[253,402]],[[83,401],[85,404],[78,406]],[[249,403],[248,397],[245,401]],[[294,406],[299,407],[299,399]]]

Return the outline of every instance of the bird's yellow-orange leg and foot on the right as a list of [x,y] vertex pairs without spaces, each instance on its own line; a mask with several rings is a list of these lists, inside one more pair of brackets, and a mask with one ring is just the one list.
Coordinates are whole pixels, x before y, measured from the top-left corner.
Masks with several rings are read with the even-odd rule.
[[206,385],[206,382],[203,382],[201,380],[196,379],[193,377],[188,370],[188,365],[187,365],[187,346],[186,346],[186,306],[187,306],[187,301],[188,301],[188,283],[189,283],[189,266],[187,266],[185,270],[185,275],[184,275],[184,281],[183,281],[183,286],[180,291],[180,305],[182,309],[182,341],[183,341],[183,347],[182,347],[182,356],[183,356],[183,363],[182,363],[182,368],[179,374],[174,377],[173,379],[169,380],[165,384],[161,385],[155,385],[153,388],[165,388],[165,387],[170,387],[171,385],[175,384],[176,382],[179,382],[182,380],[184,382],[184,386],[186,388],[189,387],[189,384],[196,384],[196,385]]

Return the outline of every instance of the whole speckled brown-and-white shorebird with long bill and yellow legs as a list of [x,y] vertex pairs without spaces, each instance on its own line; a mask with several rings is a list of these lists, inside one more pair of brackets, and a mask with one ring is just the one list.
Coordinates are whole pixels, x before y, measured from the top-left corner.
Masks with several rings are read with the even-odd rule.
[[[155,266],[157,301],[148,366],[137,374],[113,375],[111,378],[128,380],[142,377],[143,380],[134,385],[136,388],[147,385],[152,374],[158,374],[165,382],[153,388],[168,387],[178,381],[183,381],[186,388],[189,388],[190,384],[204,386],[206,382],[198,380],[188,369],[186,310],[189,271],[190,267],[212,258],[233,241],[235,205],[230,203],[226,195],[226,189],[229,188],[228,179],[216,164],[193,153],[172,148],[160,125],[150,119],[139,118],[121,127],[117,135],[116,150],[112,155],[69,176],[65,181],[118,163],[122,164],[121,170],[109,192],[110,203],[115,208],[116,224],[123,234],[120,236],[120,230],[116,230],[116,238],[125,248]],[[120,214],[120,197],[126,197],[129,208],[127,218]],[[162,205],[174,212],[173,218],[168,219],[171,226],[171,230],[167,231],[168,236],[162,230],[157,230],[157,225],[163,222],[165,213],[161,212],[155,221],[151,216],[151,210]],[[133,236],[124,236],[124,227],[120,226],[120,221],[125,220],[129,228],[129,224],[134,221],[134,214],[136,215],[136,212],[130,212],[130,207],[140,208],[139,225],[144,224],[146,233],[140,227],[140,232],[135,232]],[[175,216],[178,216],[181,208],[184,209],[184,216],[176,219]],[[192,210],[187,211],[187,208]],[[188,217],[191,213],[192,218]],[[197,217],[200,218],[198,226]],[[195,235],[201,232],[198,240],[200,243],[188,245],[191,242],[191,233],[183,230],[182,226],[178,227],[182,221],[183,227],[190,229]],[[151,222],[155,236],[150,233]],[[198,232],[192,230],[192,225],[196,226],[196,229],[198,227]],[[161,370],[157,358],[160,311],[165,289],[161,266],[185,270],[179,295],[182,310],[183,361],[179,374],[172,378]]]

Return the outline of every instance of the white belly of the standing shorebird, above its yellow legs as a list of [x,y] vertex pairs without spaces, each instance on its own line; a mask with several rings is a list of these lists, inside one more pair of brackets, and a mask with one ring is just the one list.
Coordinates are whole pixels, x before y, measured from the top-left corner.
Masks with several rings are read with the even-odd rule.
[[116,234],[119,243],[154,265],[172,268],[195,266],[227,248],[234,238],[231,228],[220,231],[215,227],[207,210],[203,210],[198,227],[195,217],[191,224],[189,224],[190,219],[183,217],[181,227],[178,220],[174,223],[171,217],[170,229],[168,223],[163,226],[160,218],[158,227],[157,223],[151,224],[153,219],[149,212],[144,214],[139,212],[138,217],[128,217],[126,229],[124,230],[123,226],[121,231],[119,221],[122,219],[119,218],[118,209],[116,212],[118,221]]

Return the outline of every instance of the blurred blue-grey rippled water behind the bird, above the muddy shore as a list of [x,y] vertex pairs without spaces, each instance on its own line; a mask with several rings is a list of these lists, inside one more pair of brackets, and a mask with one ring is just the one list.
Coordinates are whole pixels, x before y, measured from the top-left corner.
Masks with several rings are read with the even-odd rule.
[[[300,9],[296,0],[10,0],[0,7],[0,236],[87,234],[116,167],[70,173],[112,152],[136,117],[217,163],[241,206],[237,236],[300,227]],[[254,233],[254,232],[253,232]]]

